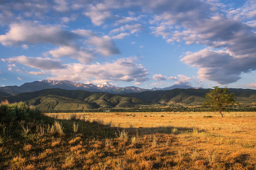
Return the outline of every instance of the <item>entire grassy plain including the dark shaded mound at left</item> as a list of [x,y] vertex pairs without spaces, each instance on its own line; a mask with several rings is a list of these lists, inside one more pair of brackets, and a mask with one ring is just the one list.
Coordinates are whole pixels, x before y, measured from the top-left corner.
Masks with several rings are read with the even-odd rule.
[[255,169],[256,112],[48,113],[0,105],[0,169]]

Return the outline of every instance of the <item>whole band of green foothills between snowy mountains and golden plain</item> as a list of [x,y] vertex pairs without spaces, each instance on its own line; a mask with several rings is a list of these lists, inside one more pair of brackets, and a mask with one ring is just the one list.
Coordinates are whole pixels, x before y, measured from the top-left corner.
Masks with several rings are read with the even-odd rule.
[[[235,93],[236,101],[240,104],[256,104],[256,90],[229,89]],[[0,101],[8,100],[10,103],[25,101],[29,106],[40,110],[86,110],[105,108],[127,108],[165,106],[178,104],[182,106],[198,106],[205,100],[204,96],[209,89],[173,89],[144,91],[140,93],[112,94],[102,92],[90,92],[86,90],[44,89],[34,92],[18,93],[10,95],[0,93]]]

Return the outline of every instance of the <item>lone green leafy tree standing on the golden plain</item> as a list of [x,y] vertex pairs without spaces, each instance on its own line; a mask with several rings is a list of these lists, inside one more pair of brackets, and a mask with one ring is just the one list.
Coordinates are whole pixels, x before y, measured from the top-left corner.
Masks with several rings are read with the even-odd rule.
[[218,86],[214,87],[214,90],[210,90],[209,93],[206,93],[206,100],[203,101],[203,107],[210,106],[212,110],[219,111],[219,114],[222,115],[222,110],[229,109],[238,102],[235,101],[236,98],[234,93],[229,93],[227,88],[219,88]]

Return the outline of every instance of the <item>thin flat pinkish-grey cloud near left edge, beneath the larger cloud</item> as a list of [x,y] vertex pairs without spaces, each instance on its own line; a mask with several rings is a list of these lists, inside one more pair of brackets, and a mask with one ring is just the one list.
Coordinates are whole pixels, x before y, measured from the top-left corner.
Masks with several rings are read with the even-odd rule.
[[30,66],[37,69],[64,69],[64,63],[57,59],[51,58],[33,58],[21,55],[18,57],[1,59],[1,61],[7,61],[8,63],[21,63],[24,66]]

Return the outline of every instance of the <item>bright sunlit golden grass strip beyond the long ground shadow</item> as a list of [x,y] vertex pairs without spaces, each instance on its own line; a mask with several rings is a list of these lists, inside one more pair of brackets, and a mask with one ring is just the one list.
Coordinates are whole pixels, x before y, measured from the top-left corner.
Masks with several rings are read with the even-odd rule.
[[[48,113],[51,117],[69,119],[74,113]],[[146,116],[146,117],[145,117]],[[212,117],[208,117],[212,116]],[[77,118],[97,121],[105,125],[120,128],[139,128],[154,131],[159,127],[195,128],[209,134],[223,135],[252,142],[256,139],[256,112],[230,112],[221,117],[217,112],[111,112],[76,113]],[[157,130],[156,130],[157,131]],[[244,141],[244,142],[245,142]]]

